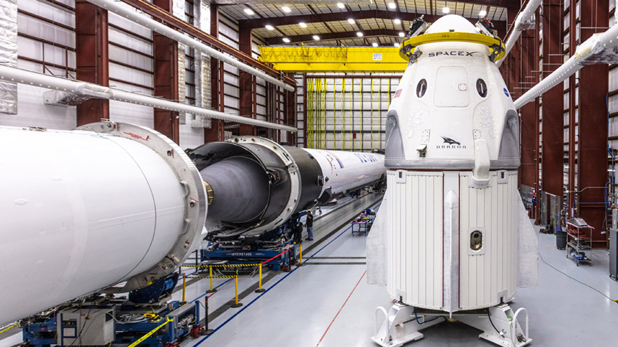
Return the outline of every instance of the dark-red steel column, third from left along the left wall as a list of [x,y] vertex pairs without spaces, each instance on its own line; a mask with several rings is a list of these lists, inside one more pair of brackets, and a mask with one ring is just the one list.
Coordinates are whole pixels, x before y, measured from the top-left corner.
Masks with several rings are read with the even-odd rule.
[[[214,38],[219,36],[219,6],[216,3],[210,5],[210,34]],[[221,67],[221,71],[223,71],[223,67]],[[210,58],[210,76],[211,106],[215,110],[223,112],[223,90],[220,88],[223,81],[219,71],[219,61],[215,58]],[[210,128],[204,129],[204,143],[223,141],[225,139],[225,123],[213,119],[210,124]]]

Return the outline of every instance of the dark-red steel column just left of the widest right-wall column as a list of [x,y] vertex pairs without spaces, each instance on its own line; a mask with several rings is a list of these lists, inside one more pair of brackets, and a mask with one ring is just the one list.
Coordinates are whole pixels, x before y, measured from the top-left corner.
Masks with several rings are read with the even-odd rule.
[[[543,1],[543,64],[547,77],[562,59],[562,0]],[[562,197],[564,185],[564,85],[558,84],[543,94],[542,107],[542,190]]]

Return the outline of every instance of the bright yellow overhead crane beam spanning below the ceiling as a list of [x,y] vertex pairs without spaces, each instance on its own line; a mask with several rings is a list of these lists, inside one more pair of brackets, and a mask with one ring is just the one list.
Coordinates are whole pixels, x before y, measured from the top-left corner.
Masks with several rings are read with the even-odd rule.
[[397,47],[260,46],[261,62],[283,72],[403,72],[408,60]]

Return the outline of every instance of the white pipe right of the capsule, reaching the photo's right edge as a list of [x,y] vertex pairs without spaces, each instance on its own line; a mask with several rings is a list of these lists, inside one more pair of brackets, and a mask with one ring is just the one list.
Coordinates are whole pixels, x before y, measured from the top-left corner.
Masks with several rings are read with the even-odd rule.
[[[575,50],[575,54],[560,65],[556,71],[550,73],[547,77],[543,78],[541,82],[536,86],[530,88],[524,95],[515,100],[515,108],[521,108],[530,101],[536,99],[542,93],[545,93],[549,89],[553,88],[571,77],[573,73],[580,71],[585,64],[593,64],[591,59],[601,56],[604,51],[608,51],[618,46],[618,24],[610,27],[603,34],[594,34],[591,38],[588,38],[584,43],[579,45]],[[596,57],[595,57],[596,56]],[[604,62],[599,62],[604,63]]]

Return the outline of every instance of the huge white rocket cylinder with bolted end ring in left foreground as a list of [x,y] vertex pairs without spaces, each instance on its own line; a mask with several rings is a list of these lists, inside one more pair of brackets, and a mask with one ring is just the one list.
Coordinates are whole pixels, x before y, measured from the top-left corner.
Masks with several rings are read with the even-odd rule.
[[0,326],[128,281],[174,271],[206,218],[196,167],[165,136],[0,127]]

